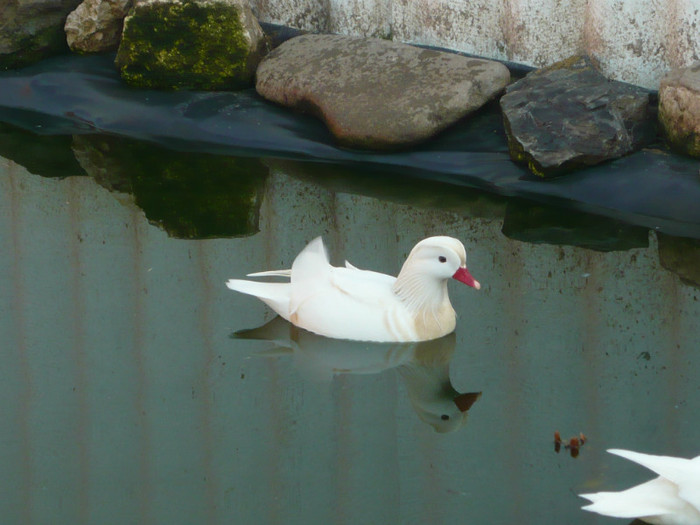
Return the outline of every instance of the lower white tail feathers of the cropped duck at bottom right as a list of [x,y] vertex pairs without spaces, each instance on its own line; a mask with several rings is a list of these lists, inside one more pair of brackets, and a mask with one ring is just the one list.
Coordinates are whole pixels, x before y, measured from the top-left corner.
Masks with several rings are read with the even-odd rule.
[[687,511],[689,505],[678,498],[677,487],[664,478],[656,478],[620,492],[580,494],[591,502],[583,510],[614,518],[660,518]]

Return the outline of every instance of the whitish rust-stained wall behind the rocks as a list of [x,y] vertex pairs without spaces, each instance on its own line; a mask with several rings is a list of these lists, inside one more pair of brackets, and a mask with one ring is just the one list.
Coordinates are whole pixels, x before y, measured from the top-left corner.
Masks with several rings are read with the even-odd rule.
[[576,53],[658,89],[700,60],[700,0],[251,0],[265,22],[392,38],[541,67]]

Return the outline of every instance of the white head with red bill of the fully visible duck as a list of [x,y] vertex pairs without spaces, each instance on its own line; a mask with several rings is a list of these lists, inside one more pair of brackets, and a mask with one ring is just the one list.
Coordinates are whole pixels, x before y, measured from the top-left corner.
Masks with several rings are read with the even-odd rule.
[[453,237],[437,236],[423,239],[413,247],[401,274],[410,271],[423,277],[444,281],[452,278],[479,290],[481,284],[467,270],[467,252]]

